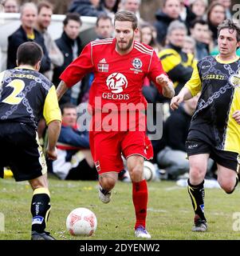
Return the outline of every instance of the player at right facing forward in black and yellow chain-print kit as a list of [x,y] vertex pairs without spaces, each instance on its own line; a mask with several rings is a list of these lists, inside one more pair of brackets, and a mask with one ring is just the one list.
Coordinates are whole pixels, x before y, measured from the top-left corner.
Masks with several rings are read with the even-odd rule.
[[190,162],[188,193],[195,210],[193,231],[207,231],[204,177],[207,160],[218,166],[218,183],[227,194],[238,184],[240,154],[240,27],[226,20],[218,26],[216,57],[199,61],[191,79],[171,101],[171,109],[201,92],[191,119],[186,147]]

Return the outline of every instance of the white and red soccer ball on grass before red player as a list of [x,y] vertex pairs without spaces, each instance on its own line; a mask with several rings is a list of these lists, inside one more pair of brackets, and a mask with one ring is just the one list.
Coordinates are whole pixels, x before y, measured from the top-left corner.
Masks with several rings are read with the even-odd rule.
[[96,226],[96,215],[83,207],[72,210],[66,220],[67,230],[72,235],[91,236]]

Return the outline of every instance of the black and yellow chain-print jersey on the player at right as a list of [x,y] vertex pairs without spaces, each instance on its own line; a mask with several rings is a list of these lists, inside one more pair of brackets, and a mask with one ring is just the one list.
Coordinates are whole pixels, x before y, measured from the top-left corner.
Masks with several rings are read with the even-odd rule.
[[240,125],[232,118],[240,110],[240,58],[203,58],[185,86],[193,96],[201,92],[188,139],[200,138],[217,150],[240,154]]

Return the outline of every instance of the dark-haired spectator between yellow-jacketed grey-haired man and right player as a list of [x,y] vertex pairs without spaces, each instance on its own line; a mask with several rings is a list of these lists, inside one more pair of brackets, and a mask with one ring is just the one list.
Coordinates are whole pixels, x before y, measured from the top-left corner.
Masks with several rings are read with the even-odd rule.
[[196,55],[197,60],[209,54],[209,45],[206,43],[206,34],[210,33],[209,27],[206,21],[203,19],[196,19],[190,25],[191,37],[196,42]]

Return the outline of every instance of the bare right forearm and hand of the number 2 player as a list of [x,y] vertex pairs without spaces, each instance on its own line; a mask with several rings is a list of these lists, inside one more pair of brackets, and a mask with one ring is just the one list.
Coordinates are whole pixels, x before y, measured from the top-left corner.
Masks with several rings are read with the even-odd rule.
[[56,160],[57,159],[57,150],[56,150],[56,144],[57,139],[59,137],[61,130],[61,122],[58,120],[53,120],[52,122],[49,122],[48,127],[48,146],[47,146],[47,154],[49,159]]

